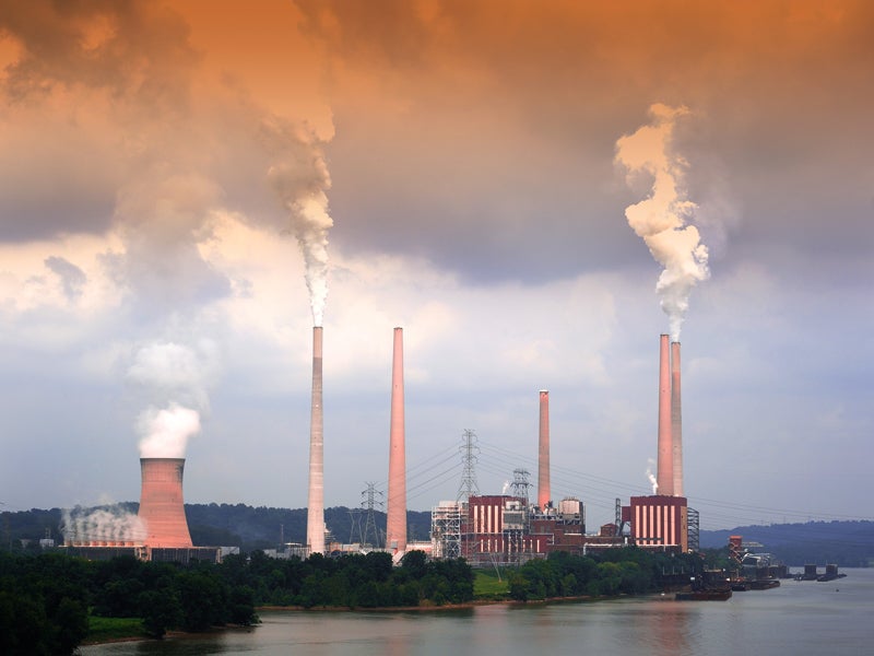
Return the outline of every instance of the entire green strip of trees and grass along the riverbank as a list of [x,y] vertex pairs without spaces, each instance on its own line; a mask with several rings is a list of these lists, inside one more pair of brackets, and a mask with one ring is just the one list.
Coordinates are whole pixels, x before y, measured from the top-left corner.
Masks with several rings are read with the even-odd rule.
[[636,548],[555,552],[476,571],[463,559],[429,561],[422,551],[399,565],[385,552],[276,560],[255,551],[187,566],[0,552],[0,653],[72,654],[81,644],[250,629],[259,610],[423,612],[595,601],[657,593],[665,575],[688,576],[705,565],[712,562],[700,555]]

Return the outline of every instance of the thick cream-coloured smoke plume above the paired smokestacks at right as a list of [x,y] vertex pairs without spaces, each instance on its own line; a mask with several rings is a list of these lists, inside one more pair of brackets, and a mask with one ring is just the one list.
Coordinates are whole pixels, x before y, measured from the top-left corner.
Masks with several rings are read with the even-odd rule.
[[664,267],[656,291],[669,318],[671,339],[678,341],[692,288],[710,276],[708,251],[698,229],[686,223],[697,206],[688,200],[683,186],[686,161],[673,150],[675,121],[689,112],[683,106],[656,104],[649,113],[650,125],[616,142],[616,162],[627,169],[629,184],[640,174],[652,178],[649,196],[627,207],[625,216]]

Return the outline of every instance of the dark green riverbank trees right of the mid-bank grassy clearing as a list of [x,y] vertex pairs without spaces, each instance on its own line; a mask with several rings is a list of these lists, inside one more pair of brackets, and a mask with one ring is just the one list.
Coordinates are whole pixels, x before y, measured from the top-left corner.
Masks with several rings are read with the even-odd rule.
[[551,597],[639,595],[661,589],[668,577],[700,572],[699,557],[613,549],[592,557],[562,551],[531,560],[509,578],[510,597],[518,601]]

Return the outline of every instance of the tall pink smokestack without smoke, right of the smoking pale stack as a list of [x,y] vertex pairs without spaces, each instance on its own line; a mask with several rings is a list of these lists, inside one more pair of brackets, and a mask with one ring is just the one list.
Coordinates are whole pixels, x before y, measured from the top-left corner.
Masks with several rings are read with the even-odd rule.
[[394,329],[391,363],[391,423],[389,427],[389,500],[386,548],[406,551],[406,455],[403,421],[403,328]]

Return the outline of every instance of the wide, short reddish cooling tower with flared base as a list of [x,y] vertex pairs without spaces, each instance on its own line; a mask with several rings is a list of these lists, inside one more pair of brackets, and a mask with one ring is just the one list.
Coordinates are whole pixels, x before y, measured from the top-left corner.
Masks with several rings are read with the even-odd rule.
[[192,547],[182,501],[185,458],[140,458],[142,489],[139,517],[146,547]]

